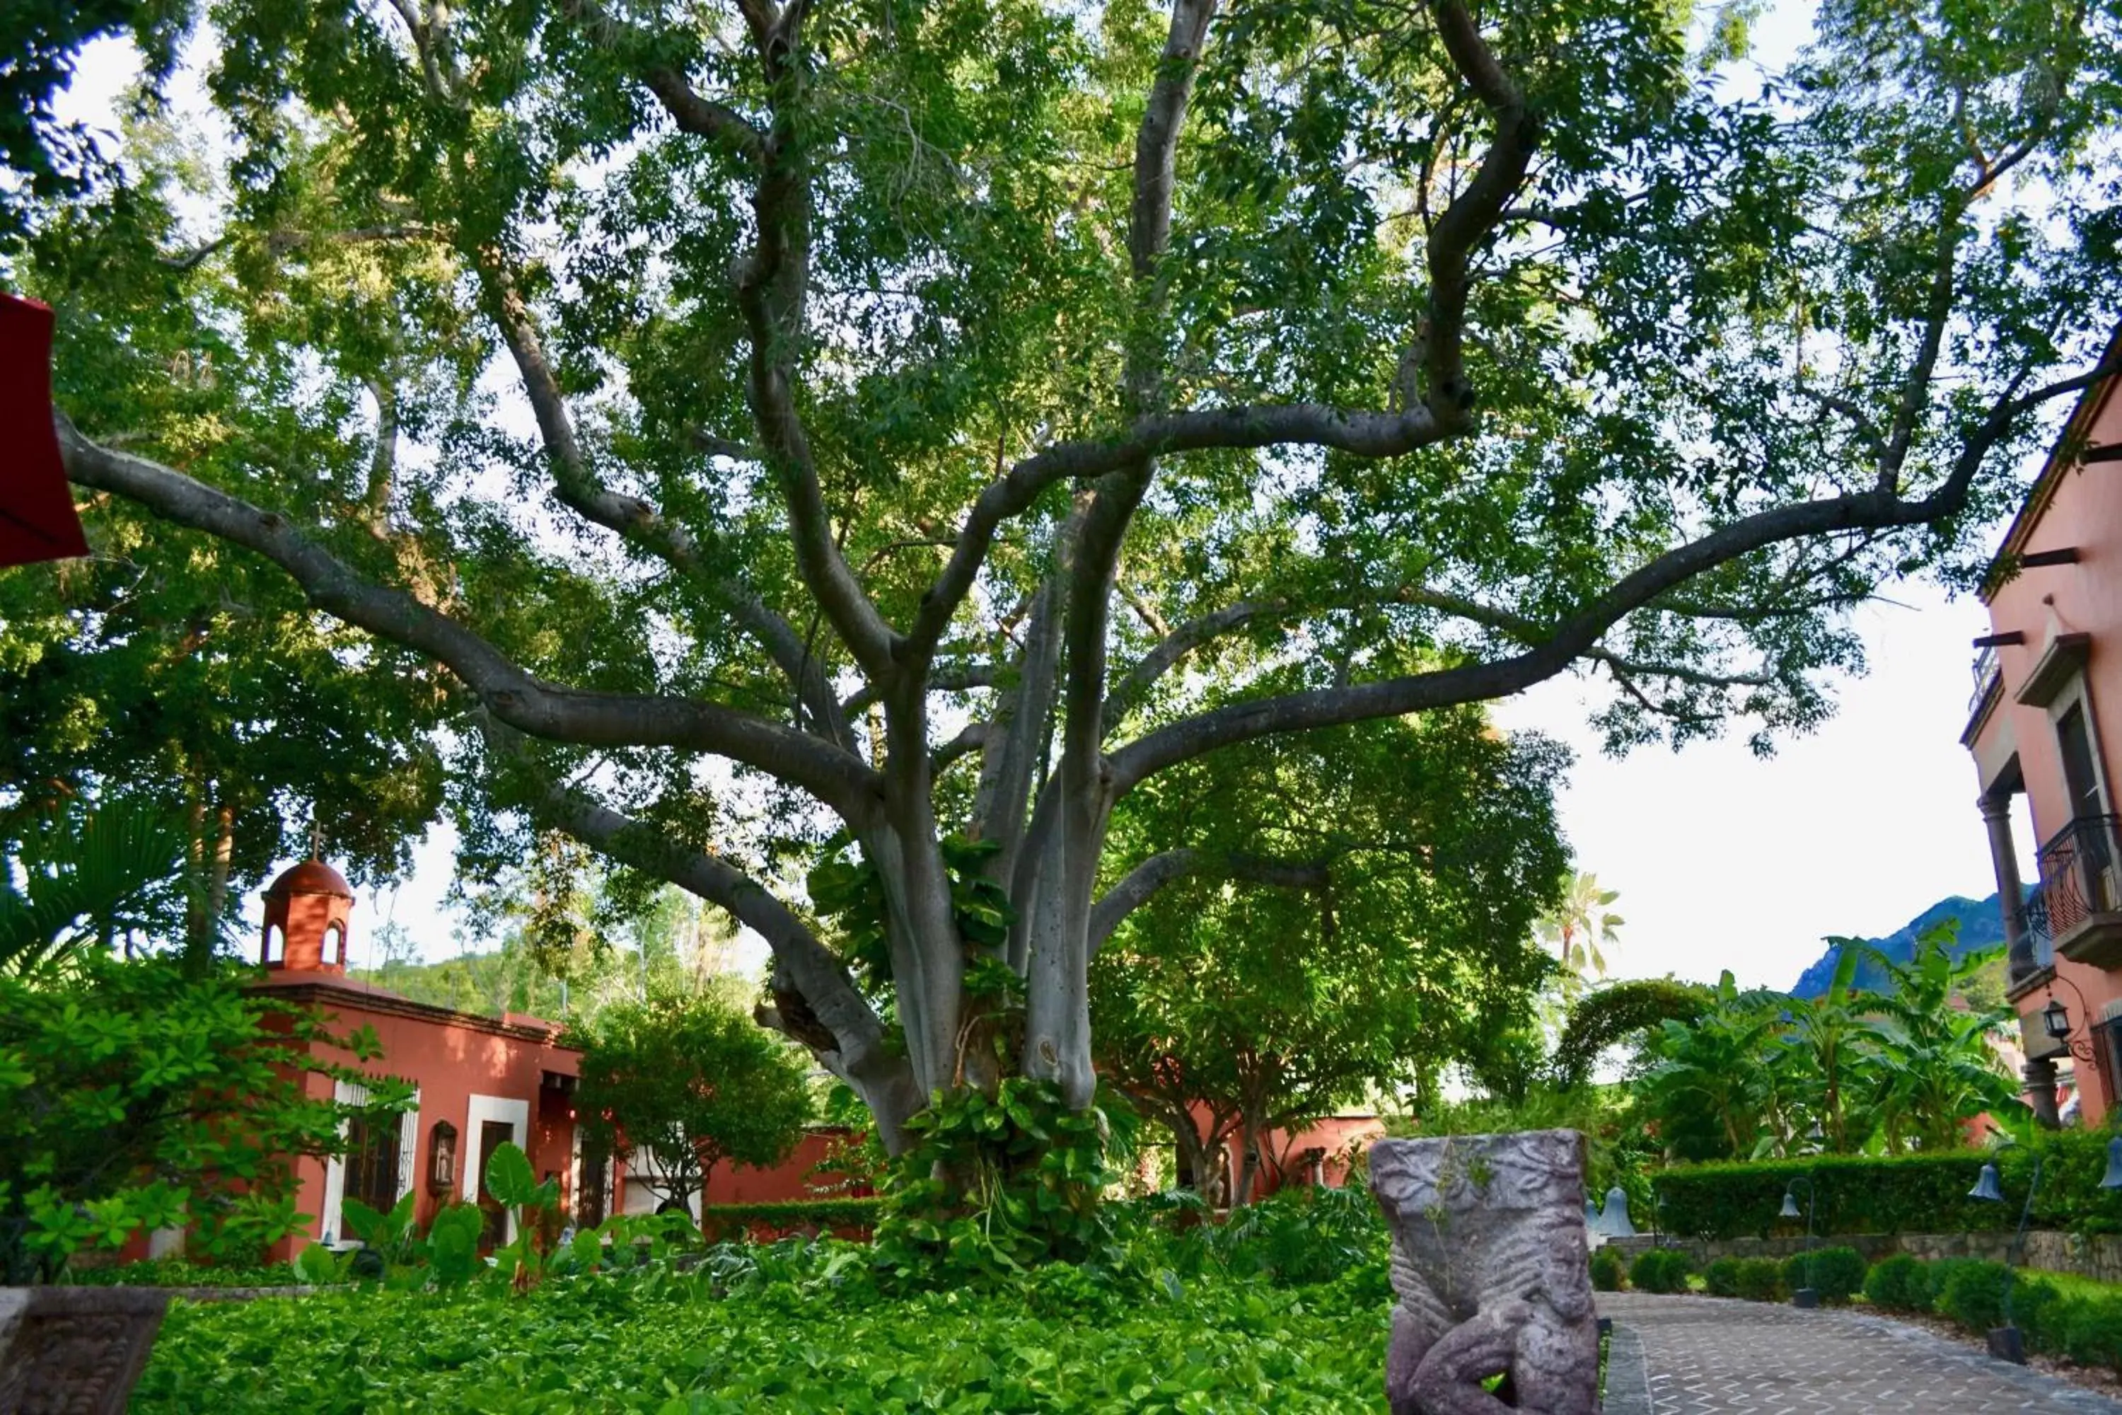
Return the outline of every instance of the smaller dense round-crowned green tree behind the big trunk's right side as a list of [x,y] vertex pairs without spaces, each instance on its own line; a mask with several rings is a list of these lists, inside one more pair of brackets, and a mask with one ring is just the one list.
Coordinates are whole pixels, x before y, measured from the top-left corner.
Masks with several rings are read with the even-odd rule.
[[[1462,1061],[1530,1014],[1551,972],[1528,925],[1566,851],[1562,753],[1479,711],[1271,738],[1137,791],[1142,863],[1091,965],[1101,1073],[1163,1122],[1197,1184],[1239,1141]],[[1273,855],[1250,851],[1271,849]]]

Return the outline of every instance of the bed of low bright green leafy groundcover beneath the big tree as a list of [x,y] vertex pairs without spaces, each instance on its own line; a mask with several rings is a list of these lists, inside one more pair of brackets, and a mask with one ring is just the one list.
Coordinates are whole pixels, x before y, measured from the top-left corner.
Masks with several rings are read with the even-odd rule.
[[1010,1294],[717,1296],[705,1273],[647,1273],[520,1298],[176,1303],[132,1411],[1384,1411],[1384,1300],[1347,1283],[1173,1288],[1118,1296],[1042,1275]]

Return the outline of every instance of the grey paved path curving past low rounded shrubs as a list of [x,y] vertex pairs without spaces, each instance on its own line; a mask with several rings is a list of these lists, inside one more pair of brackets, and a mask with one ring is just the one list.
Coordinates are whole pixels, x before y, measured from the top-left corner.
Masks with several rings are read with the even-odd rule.
[[[1600,1292],[1598,1311],[1642,1349],[1649,1407],[1636,1404],[1640,1415],[2122,1415],[2105,1396],[1855,1311],[1640,1292]],[[1630,1379],[1617,1387],[1615,1375],[1606,1377],[1608,1411],[1632,1415],[1632,1402],[1613,1398]]]

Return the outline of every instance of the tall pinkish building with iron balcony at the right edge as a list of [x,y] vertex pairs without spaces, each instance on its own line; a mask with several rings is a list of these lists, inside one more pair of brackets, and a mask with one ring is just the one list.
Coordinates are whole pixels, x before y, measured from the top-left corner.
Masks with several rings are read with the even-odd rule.
[[[2107,356],[2122,350],[2116,329]],[[2027,1103],[2084,1122],[2122,1095],[2122,380],[2080,397],[1984,581],[1973,755],[2020,1014]],[[2027,796],[2039,851],[2012,842]],[[2060,1033],[2060,1035],[2058,1035]]]

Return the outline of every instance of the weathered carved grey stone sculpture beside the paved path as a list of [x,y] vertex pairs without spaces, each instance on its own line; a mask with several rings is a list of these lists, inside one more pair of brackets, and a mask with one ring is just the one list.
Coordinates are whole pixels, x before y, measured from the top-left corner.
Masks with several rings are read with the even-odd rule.
[[1583,1137],[1381,1139],[1371,1192],[1392,1224],[1392,1415],[1594,1415]]

